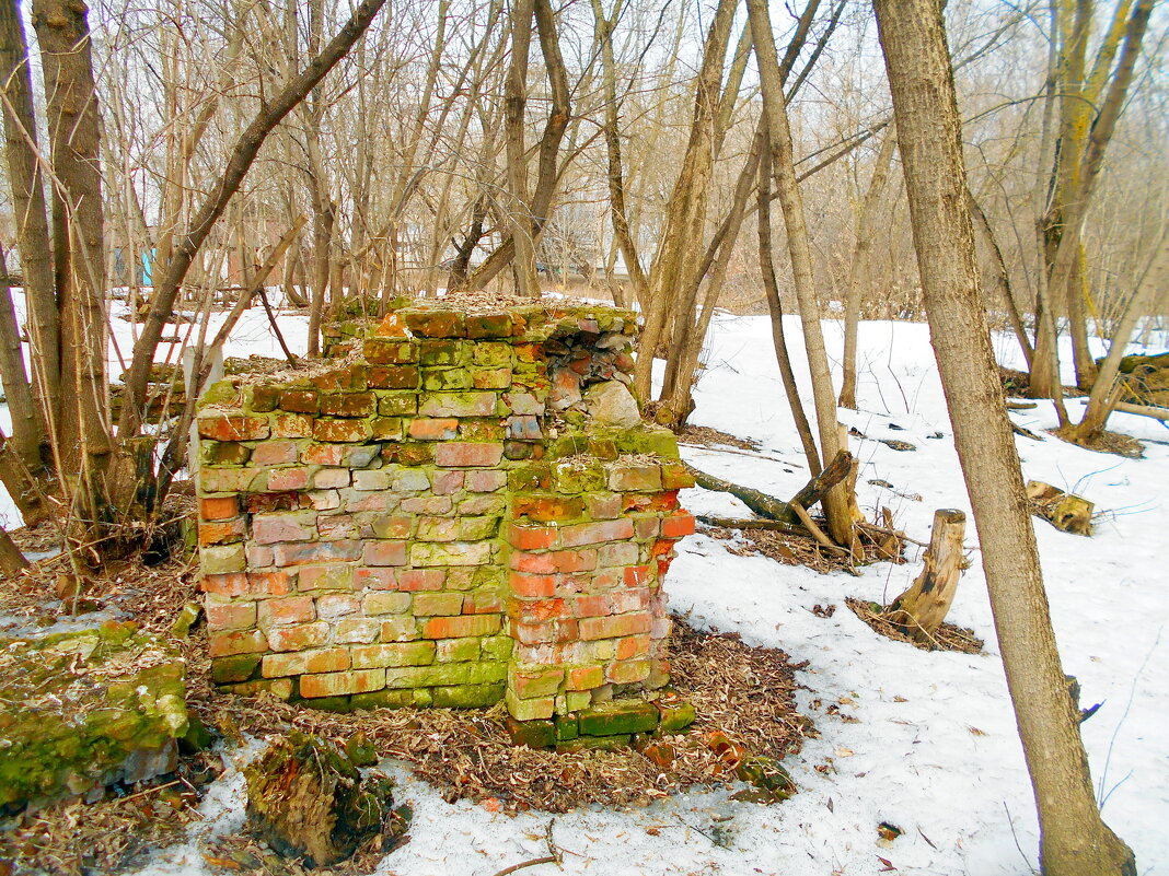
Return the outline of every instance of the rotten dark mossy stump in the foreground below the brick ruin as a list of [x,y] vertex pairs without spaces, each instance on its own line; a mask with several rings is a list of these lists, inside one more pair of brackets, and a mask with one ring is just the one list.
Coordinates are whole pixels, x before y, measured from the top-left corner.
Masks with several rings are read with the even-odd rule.
[[345,752],[311,734],[290,731],[243,772],[253,830],[309,868],[345,861],[379,834],[385,850],[406,830],[392,808],[393,780],[362,778]]

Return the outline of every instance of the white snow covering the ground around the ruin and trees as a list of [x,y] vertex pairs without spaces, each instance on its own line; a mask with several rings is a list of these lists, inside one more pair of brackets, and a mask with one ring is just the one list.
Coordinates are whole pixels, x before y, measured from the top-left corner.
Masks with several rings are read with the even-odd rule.
[[[115,324],[129,355],[129,324]],[[839,324],[824,325],[830,353],[838,355]],[[789,319],[787,327],[807,390],[798,321]],[[293,349],[304,348],[303,318],[283,317],[282,329]],[[1005,364],[1016,363],[1009,338],[996,339],[996,347]],[[258,308],[244,318],[227,350],[251,353],[278,355]],[[767,319],[720,317],[708,353],[693,422],[755,438],[761,453],[782,461],[700,449],[686,449],[686,458],[713,474],[790,495],[808,472]],[[863,324],[859,368],[862,410],[841,416],[867,436],[852,439],[862,464],[862,506],[869,514],[888,506],[898,526],[924,540],[935,508],[969,510],[927,327]],[[1080,406],[1070,403],[1073,417]],[[0,420],[6,416],[0,409]],[[1047,405],[1012,416],[1040,434],[1054,424]],[[1026,478],[1075,489],[1102,512],[1092,538],[1059,533],[1042,521],[1036,531],[1065,672],[1079,679],[1085,705],[1104,703],[1082,731],[1105,819],[1135,850],[1139,872],[1167,874],[1169,596],[1161,586],[1158,552],[1169,530],[1163,499],[1169,492],[1169,431],[1119,413],[1111,425],[1149,439],[1146,459],[1094,453],[1051,437],[1016,440]],[[916,450],[898,452],[873,440],[879,438],[909,442]],[[684,501],[696,512],[743,512],[736,500],[701,489],[686,491]],[[967,543],[975,543],[973,526]],[[873,565],[860,577],[818,575],[728,554],[722,543],[701,535],[682,542],[678,552],[666,583],[672,610],[701,626],[735,631],[749,644],[782,647],[795,660],[808,660],[797,677],[810,690],[801,691],[800,705],[822,738],[808,741],[788,764],[801,792],[782,806],[703,792],[648,808],[588,808],[556,816],[553,835],[566,853],[563,871],[851,875],[881,871],[880,858],[897,872],[921,875],[1016,876],[1036,867],[1035,804],[977,555],[949,619],[987,640],[984,655],[927,653],[883,639],[844,606],[850,596],[887,602],[916,575],[916,563]],[[838,610],[821,618],[811,613],[816,604]],[[856,723],[825,714],[833,703]],[[242,763],[255,750],[234,757]],[[402,769],[394,772],[397,799],[414,807],[415,819],[410,841],[387,856],[379,872],[487,876],[547,854],[549,815],[510,818],[466,801],[448,805]],[[207,821],[198,830],[235,829],[241,794],[233,769],[205,801]],[[905,834],[879,844],[881,821]],[[196,847],[188,843],[158,853],[140,876],[205,871]],[[532,876],[556,871],[552,865],[526,870]]]

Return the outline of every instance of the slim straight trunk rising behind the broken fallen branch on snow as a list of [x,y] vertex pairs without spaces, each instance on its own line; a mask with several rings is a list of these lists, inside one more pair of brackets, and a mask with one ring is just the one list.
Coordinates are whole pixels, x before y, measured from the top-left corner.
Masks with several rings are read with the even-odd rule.
[[[811,245],[808,241],[800,183],[796,181],[791,131],[788,126],[783,83],[779,57],[775,53],[775,40],[772,36],[767,0],[748,0],[747,11],[755,37],[755,57],[759,61],[763,111],[767,114],[767,127],[770,137],[772,176],[775,181],[780,206],[783,208],[783,222],[788,230],[788,252],[791,257],[796,298],[800,301],[804,347],[808,350],[821,456],[824,459],[831,459],[845,449],[841,444],[841,429],[836,418],[832,373],[828,363],[828,352],[824,348],[824,334],[819,322],[819,303],[816,298],[816,285],[811,269]],[[852,492],[851,485],[841,484],[829,491],[822,505],[832,538],[838,544],[851,547],[856,540],[853,523],[860,519],[860,510],[857,508],[856,494]]]

